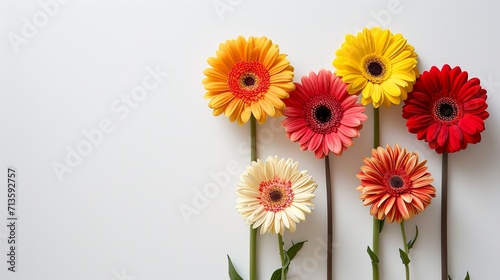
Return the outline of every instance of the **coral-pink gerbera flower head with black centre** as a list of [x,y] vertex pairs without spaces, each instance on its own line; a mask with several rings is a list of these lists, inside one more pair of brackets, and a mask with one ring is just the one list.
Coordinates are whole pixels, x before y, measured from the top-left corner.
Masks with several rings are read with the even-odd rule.
[[359,136],[361,122],[367,119],[365,107],[349,95],[346,84],[327,70],[304,76],[285,100],[283,111],[287,137],[300,144],[302,150],[313,151],[324,158],[331,151],[336,155],[350,147]]

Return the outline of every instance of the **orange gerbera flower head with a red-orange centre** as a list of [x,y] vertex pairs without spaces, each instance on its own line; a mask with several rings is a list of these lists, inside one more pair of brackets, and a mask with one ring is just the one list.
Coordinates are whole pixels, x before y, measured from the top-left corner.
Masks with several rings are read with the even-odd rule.
[[280,117],[293,85],[293,67],[279,47],[266,37],[239,36],[220,44],[212,68],[203,73],[203,85],[213,114],[224,113],[231,122],[246,123],[253,114],[259,123],[266,116]]

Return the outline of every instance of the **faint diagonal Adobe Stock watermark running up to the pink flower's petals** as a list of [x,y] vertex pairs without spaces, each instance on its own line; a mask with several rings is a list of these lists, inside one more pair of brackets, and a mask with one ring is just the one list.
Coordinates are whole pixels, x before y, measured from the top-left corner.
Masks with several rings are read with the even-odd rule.
[[[276,133],[284,133],[284,128],[280,124],[280,119],[270,118],[269,127],[259,126],[257,128],[257,146],[259,148],[273,142]],[[250,140],[241,142],[236,146],[236,149],[238,154],[250,156]],[[210,181],[203,187],[193,188],[193,197],[190,202],[179,204],[179,212],[184,222],[190,224],[194,216],[200,215],[201,211],[206,209],[219,196],[221,191],[229,186],[231,178],[241,175],[245,168],[246,166],[241,166],[238,161],[229,160],[224,169],[209,172]]]

